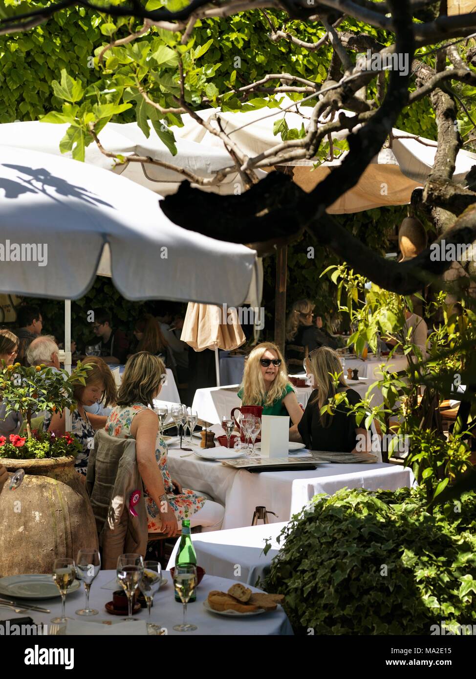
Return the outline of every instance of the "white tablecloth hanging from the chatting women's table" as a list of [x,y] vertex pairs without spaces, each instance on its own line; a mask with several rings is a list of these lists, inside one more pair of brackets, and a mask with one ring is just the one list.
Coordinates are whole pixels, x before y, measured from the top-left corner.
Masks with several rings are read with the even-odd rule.
[[225,506],[221,528],[251,526],[257,505],[264,505],[270,522],[289,521],[317,493],[332,495],[340,488],[397,490],[414,483],[411,469],[396,464],[319,464],[311,471],[249,473],[221,462],[202,460],[181,450],[168,452],[172,478],[185,488],[202,491]]

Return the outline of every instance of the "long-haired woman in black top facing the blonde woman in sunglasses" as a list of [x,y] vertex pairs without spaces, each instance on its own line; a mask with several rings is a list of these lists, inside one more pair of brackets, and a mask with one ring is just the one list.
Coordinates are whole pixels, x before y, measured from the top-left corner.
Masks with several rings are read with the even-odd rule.
[[[367,430],[357,426],[355,416],[350,414],[347,405],[340,403],[334,408],[333,415],[329,413],[321,415],[321,407],[335,393],[346,390],[350,405],[361,401],[356,391],[347,388],[337,353],[327,346],[319,347],[309,354],[306,365],[316,388],[311,394],[301,421],[289,430],[289,439],[304,443],[311,450],[344,453],[356,452],[359,441],[359,452],[370,452],[371,441],[367,436]],[[337,389],[329,373],[340,373]]]

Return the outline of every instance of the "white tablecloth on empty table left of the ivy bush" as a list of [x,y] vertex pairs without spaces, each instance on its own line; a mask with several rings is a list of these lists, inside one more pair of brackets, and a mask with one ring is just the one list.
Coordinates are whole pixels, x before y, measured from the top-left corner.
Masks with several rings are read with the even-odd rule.
[[[282,541],[278,545],[276,537],[286,524],[287,522],[283,521],[280,524],[259,524],[248,528],[194,534],[197,563],[208,575],[255,585],[282,547]],[[271,538],[272,547],[265,556],[263,548],[266,545],[266,538]],[[175,566],[179,544],[180,540],[177,540],[167,568]]]

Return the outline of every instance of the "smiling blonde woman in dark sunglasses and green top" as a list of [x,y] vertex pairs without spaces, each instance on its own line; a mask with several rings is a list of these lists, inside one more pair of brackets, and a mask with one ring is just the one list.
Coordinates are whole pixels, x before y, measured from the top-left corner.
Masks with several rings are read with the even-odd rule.
[[293,425],[303,415],[288,380],[286,363],[272,342],[258,344],[249,354],[238,398],[242,405],[262,405],[263,415],[289,415]]

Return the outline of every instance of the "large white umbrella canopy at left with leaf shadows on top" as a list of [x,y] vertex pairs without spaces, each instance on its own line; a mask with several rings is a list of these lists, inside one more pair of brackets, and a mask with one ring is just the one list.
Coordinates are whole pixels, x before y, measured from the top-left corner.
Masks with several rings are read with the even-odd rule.
[[[114,285],[127,299],[238,306],[249,295],[255,251],[178,227],[157,194],[124,177],[5,146],[0,196],[0,292],[77,299],[107,243]],[[44,244],[45,261],[16,261],[12,244],[25,255]]]

